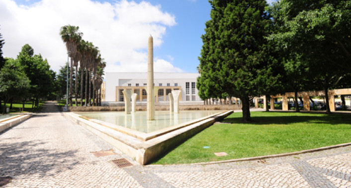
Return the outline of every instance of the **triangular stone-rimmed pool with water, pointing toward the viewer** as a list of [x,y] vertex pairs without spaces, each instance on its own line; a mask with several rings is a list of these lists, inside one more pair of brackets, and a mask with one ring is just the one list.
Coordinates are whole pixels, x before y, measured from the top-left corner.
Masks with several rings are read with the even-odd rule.
[[65,116],[145,165],[231,113],[233,110],[156,111],[155,121],[146,121],[146,112],[76,112]]

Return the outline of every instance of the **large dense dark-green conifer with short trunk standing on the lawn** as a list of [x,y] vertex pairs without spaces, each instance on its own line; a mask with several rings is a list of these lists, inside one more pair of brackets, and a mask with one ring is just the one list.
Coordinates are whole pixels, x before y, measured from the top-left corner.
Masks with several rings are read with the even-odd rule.
[[[277,83],[276,61],[265,37],[272,21],[265,0],[211,0],[211,20],[202,36],[201,77],[215,83],[199,85],[228,93],[242,101],[243,120],[251,121],[250,98],[271,92]],[[204,73],[203,73],[204,72]],[[202,80],[202,79],[198,79]],[[216,86],[218,85],[218,86]]]

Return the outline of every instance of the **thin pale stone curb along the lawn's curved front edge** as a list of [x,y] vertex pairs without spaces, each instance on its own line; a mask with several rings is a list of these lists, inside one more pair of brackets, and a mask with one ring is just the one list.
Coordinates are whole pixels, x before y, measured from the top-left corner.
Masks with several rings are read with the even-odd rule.
[[187,165],[212,165],[212,164],[231,163],[231,162],[256,161],[256,160],[263,160],[263,159],[269,159],[269,158],[298,155],[298,154],[303,154],[303,153],[313,153],[313,152],[317,152],[317,151],[334,149],[334,148],[338,148],[338,147],[345,147],[345,146],[349,146],[349,145],[351,145],[351,142],[338,144],[338,145],[332,145],[332,146],[326,146],[326,147],[320,147],[320,148],[315,148],[315,149],[296,151],[296,152],[291,152],[291,153],[281,153],[281,154],[275,154],[275,155],[265,155],[265,156],[259,156],[259,157],[248,157],[248,158],[241,158],[241,159],[230,159],[230,160],[224,160],[224,161],[212,161],[212,162],[204,162],[204,163],[190,163]]

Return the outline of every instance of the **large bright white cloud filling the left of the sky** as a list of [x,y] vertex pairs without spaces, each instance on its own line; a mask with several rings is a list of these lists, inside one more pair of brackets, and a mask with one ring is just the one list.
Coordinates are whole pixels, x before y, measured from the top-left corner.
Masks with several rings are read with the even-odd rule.
[[[13,0],[0,0],[0,33],[5,40],[5,57],[15,58],[24,44],[35,54],[48,59],[57,71],[67,61],[61,26],[80,27],[83,39],[99,47],[107,66],[105,71],[147,71],[147,46],[150,34],[154,46],[163,43],[167,27],[175,16],[149,2],[118,0],[110,4],[91,0],[41,0],[29,6]],[[162,66],[162,67],[161,67]],[[166,60],[157,60],[155,70],[179,72]]]

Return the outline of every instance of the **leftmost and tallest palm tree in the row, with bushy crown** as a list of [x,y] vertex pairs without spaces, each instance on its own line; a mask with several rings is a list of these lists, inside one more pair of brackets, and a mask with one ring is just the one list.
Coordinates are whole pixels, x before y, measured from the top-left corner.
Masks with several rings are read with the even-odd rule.
[[77,54],[77,45],[82,39],[83,33],[79,32],[78,26],[65,25],[61,27],[60,35],[61,39],[66,43],[68,55],[71,58],[71,70],[70,70],[70,105],[72,106],[72,75],[73,75],[73,58]]

